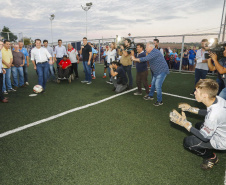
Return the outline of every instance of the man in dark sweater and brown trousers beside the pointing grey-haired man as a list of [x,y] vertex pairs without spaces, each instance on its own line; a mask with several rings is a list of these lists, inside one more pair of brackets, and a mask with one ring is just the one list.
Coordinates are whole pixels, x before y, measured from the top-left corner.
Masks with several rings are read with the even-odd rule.
[[[145,57],[146,53],[144,52],[144,44],[138,43],[137,44],[137,58]],[[147,62],[136,62],[136,82],[138,91],[134,93],[134,95],[142,95],[141,85],[144,85],[146,90],[146,95],[149,94],[149,87],[148,87],[148,64]]]

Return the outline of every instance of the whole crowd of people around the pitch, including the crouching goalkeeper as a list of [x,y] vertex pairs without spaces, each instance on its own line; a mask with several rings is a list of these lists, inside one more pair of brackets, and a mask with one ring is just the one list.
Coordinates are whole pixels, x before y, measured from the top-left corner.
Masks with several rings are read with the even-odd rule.
[[[79,78],[78,64],[82,58],[85,79],[81,82],[92,84],[96,79],[95,60],[98,51],[94,45],[83,38],[83,45],[80,51],[77,51],[68,44],[68,50],[62,45],[62,40],[58,40],[58,46],[53,48],[48,46],[48,41],[43,41],[43,47],[40,39],[35,40],[35,48],[31,50],[31,61],[38,75],[38,84],[46,90],[46,83],[49,80],[59,80],[62,78]],[[144,100],[153,100],[154,93],[157,92],[157,101],[155,106],[163,105],[162,85],[169,74],[169,69],[178,68],[180,55],[176,50],[170,48],[162,49],[159,47],[159,40],[154,39],[148,42],[146,47],[142,43],[136,44],[136,53],[131,49],[131,40],[125,39],[124,44],[119,48],[112,42],[106,46],[103,53],[104,58],[104,75],[109,80],[107,83],[113,84],[113,91],[116,93],[123,92],[133,88],[132,64],[136,66],[136,85],[137,92],[134,95],[142,95],[142,85],[145,88],[146,95]],[[11,50],[12,49],[12,50]],[[194,90],[190,95],[195,95],[198,102],[203,103],[207,110],[200,110],[182,103],[178,108],[182,114],[173,110],[170,113],[170,120],[180,126],[185,127],[192,136],[184,139],[184,147],[191,150],[197,155],[203,157],[201,168],[204,170],[211,169],[218,163],[218,157],[214,150],[226,150],[226,47],[223,52],[223,58],[218,59],[217,55],[209,52],[209,58],[206,58],[208,49],[208,40],[201,41],[201,49],[185,50],[183,53],[183,69],[193,70],[195,66]],[[8,98],[4,97],[10,92],[29,85],[27,67],[29,66],[29,55],[23,42],[14,44],[10,48],[8,40],[0,41],[0,100],[7,103]],[[219,61],[218,61],[219,60]],[[56,68],[54,67],[56,63]],[[148,66],[152,76],[151,88],[148,86]],[[216,81],[206,79],[208,70],[217,71],[218,78]],[[11,73],[13,83],[11,83]],[[57,73],[57,77],[55,74]],[[19,82],[18,82],[19,75]],[[12,86],[13,84],[13,86]],[[219,95],[219,96],[217,96]],[[192,126],[183,111],[205,116],[204,122]]]

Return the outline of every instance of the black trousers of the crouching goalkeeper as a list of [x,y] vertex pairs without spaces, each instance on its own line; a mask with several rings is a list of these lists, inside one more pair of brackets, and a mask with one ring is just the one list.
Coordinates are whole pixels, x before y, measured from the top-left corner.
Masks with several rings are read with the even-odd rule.
[[[197,123],[195,127],[200,129],[202,123]],[[210,142],[204,142],[196,136],[188,136],[184,138],[184,147],[196,155],[201,156],[204,159],[209,159],[214,157],[213,147]]]

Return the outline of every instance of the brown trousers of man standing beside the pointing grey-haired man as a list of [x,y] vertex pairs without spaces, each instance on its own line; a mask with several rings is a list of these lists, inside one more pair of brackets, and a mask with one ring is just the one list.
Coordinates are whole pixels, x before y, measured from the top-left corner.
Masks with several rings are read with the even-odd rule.
[[149,94],[148,71],[137,72],[136,82],[137,82],[137,87],[138,87],[139,93],[142,92],[141,85],[143,84],[144,88],[146,90],[146,94]]

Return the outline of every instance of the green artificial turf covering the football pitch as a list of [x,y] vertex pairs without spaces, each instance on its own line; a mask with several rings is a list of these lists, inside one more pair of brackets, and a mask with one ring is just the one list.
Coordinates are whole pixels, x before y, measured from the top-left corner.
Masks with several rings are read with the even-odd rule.
[[[0,104],[0,133],[114,95],[108,79],[102,79],[103,65],[96,68],[91,85],[81,84],[79,64],[79,80],[49,82],[45,94],[29,97],[37,84],[29,67],[30,86]],[[133,76],[135,82],[135,69]],[[171,73],[163,85],[164,92],[186,97],[193,88],[192,74]],[[168,117],[180,102],[204,106],[167,95],[163,102],[155,107],[130,92],[1,138],[0,184],[223,184],[225,153],[217,152],[219,164],[202,171],[202,159],[183,148],[189,133]],[[204,119],[190,113],[187,118]]]

